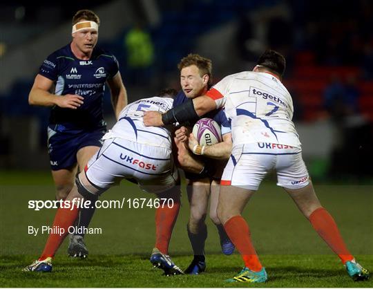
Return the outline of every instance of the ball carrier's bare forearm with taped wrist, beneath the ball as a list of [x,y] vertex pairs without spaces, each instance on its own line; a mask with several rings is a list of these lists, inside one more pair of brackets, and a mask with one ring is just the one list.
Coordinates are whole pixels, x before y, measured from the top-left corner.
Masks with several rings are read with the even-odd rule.
[[197,155],[216,158],[218,160],[228,160],[232,151],[232,134],[224,133],[222,140],[222,142],[218,142],[215,145],[200,146],[193,133],[191,133],[189,135],[189,149]]

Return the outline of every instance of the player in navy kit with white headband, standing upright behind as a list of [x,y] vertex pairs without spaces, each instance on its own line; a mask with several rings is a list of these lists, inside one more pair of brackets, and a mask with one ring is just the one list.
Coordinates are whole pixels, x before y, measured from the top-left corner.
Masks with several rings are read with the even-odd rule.
[[[48,153],[57,200],[66,198],[77,169],[82,170],[101,147],[106,132],[102,116],[105,83],[111,90],[115,116],[127,104],[126,89],[114,55],[96,47],[99,17],[79,10],[73,17],[70,44],[56,50],[41,64],[31,88],[31,105],[52,106],[48,124]],[[52,86],[55,86],[53,93]],[[77,227],[84,232],[95,207],[82,209]],[[86,257],[84,234],[70,239],[68,254]]]

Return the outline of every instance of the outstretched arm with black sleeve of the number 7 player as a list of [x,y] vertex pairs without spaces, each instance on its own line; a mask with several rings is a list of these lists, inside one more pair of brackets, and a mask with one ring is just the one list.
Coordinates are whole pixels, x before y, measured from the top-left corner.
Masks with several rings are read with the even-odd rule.
[[145,111],[144,124],[147,127],[162,127],[165,124],[175,122],[184,123],[188,120],[198,119],[201,115],[213,109],[216,109],[215,100],[207,95],[202,95],[195,97],[193,100],[188,100],[163,114],[157,111]]

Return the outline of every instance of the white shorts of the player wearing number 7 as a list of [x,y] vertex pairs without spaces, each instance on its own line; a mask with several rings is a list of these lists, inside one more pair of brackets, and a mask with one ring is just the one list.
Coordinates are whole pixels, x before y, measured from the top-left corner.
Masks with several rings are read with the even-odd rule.
[[221,185],[258,190],[267,172],[276,169],[277,185],[300,189],[309,184],[302,150],[287,145],[258,142],[236,145],[222,174]]

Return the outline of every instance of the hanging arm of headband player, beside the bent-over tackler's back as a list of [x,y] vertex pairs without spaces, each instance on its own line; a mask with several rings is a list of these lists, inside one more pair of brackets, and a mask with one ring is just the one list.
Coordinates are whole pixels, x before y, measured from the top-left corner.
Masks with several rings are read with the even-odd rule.
[[113,109],[115,117],[119,118],[119,113],[122,111],[124,106],[128,104],[127,91],[122,82],[122,76],[119,71],[115,77],[108,80],[108,86],[111,91],[111,103],[113,104]]

